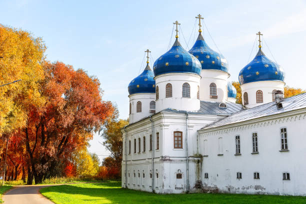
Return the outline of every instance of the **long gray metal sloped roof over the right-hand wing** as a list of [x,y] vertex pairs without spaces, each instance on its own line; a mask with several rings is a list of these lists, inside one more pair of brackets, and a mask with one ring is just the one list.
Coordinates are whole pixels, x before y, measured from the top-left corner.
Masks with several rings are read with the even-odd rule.
[[231,114],[228,117],[220,119],[216,122],[208,124],[201,129],[209,129],[213,127],[219,127],[227,124],[246,121],[258,117],[278,114],[281,112],[287,112],[294,109],[306,107],[306,93],[301,93],[289,98],[285,98],[281,101],[283,108],[277,109],[275,102],[269,102],[262,105],[258,105],[253,108],[245,109]]

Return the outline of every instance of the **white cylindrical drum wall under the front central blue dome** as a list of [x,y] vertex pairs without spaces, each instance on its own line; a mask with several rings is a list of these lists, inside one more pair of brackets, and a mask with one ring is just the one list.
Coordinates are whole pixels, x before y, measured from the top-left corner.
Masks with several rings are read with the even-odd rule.
[[[154,77],[155,85],[159,89],[159,99],[156,100],[156,112],[173,108],[177,110],[196,111],[200,108],[197,99],[197,86],[200,76],[194,73],[165,73]],[[190,98],[182,97],[182,84],[189,83]],[[172,97],[165,97],[167,83],[172,85]]]

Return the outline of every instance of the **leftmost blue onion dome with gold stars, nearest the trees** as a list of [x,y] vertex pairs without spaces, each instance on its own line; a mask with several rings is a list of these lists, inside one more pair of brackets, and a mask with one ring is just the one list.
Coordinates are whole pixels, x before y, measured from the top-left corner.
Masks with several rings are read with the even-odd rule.
[[154,74],[148,63],[143,72],[128,84],[128,93],[155,93]]

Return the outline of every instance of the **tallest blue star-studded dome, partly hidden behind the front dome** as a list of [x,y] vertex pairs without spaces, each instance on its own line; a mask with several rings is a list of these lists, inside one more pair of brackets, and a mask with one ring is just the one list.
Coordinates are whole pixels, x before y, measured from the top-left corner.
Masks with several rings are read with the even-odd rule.
[[202,69],[217,69],[227,72],[227,60],[222,54],[213,51],[205,42],[201,33],[189,50],[201,63]]

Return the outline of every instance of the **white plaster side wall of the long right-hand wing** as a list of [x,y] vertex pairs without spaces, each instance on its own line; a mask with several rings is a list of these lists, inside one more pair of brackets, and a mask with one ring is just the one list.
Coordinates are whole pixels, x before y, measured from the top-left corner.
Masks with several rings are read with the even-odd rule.
[[[207,154],[202,161],[203,184],[216,186],[220,192],[227,193],[306,195],[305,122],[304,112],[301,116],[200,133],[200,153]],[[289,151],[279,151],[282,127],[287,128]],[[252,132],[257,132],[258,154],[251,154]],[[241,155],[234,155],[236,135],[240,136]],[[223,155],[217,155],[219,137],[223,140]],[[208,142],[206,150],[203,149],[205,139]],[[259,172],[260,179],[253,179],[255,171]],[[204,178],[205,172],[208,172],[208,179]],[[242,173],[241,179],[236,178],[236,172]],[[290,173],[290,180],[282,180],[283,172]]]

